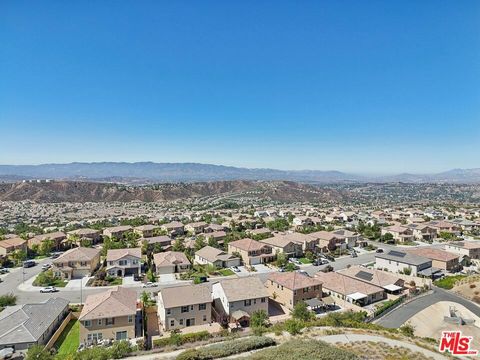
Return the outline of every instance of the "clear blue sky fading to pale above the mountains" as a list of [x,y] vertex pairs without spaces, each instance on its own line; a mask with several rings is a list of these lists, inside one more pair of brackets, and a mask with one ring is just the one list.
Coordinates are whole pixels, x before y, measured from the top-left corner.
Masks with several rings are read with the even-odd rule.
[[0,2],[0,163],[480,167],[480,1]]

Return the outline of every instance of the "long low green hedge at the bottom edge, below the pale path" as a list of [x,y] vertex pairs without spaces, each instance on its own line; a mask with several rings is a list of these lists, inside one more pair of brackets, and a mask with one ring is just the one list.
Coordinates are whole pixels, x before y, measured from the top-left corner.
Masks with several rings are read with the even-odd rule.
[[177,360],[218,359],[247,351],[275,345],[275,340],[265,336],[252,336],[240,340],[225,341],[208,347],[190,349],[177,356]]

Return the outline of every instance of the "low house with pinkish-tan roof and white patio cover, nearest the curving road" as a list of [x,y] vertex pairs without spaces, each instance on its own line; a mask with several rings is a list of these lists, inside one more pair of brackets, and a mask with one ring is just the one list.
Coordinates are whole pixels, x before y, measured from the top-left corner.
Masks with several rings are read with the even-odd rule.
[[322,282],[323,292],[359,306],[365,306],[386,297],[385,291],[355,278],[337,272],[319,271],[315,278]]

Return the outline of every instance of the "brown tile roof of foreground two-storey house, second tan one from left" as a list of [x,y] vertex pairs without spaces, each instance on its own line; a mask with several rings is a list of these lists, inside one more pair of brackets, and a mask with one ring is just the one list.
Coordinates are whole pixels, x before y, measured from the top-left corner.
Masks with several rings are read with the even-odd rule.
[[206,285],[186,285],[167,287],[160,290],[158,298],[164,308],[204,304],[212,302],[212,293]]

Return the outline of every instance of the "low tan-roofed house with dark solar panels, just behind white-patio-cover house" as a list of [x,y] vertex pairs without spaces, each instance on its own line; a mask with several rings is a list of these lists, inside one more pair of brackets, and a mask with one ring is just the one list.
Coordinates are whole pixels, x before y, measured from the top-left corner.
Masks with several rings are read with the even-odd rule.
[[405,281],[392,273],[370,269],[360,265],[354,265],[339,271],[340,274],[353,279],[366,282],[383,288],[387,293],[398,294],[403,288]]

